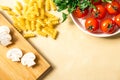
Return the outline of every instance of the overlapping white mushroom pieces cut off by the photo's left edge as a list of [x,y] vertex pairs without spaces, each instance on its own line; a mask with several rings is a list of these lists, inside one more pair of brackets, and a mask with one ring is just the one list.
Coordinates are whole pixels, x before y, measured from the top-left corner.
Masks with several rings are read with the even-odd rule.
[[0,44],[8,46],[12,44],[11,40],[10,29],[7,26],[0,26]]

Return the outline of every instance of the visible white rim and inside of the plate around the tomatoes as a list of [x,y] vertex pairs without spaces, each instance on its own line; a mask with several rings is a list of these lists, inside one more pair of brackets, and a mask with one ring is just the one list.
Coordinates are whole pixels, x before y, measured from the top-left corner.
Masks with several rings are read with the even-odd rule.
[[102,32],[99,32],[99,33],[91,33],[89,31],[87,31],[84,27],[84,23],[85,23],[85,19],[83,18],[76,18],[73,14],[70,14],[73,22],[76,24],[76,26],[81,30],[83,31],[84,33],[86,34],[89,34],[91,36],[95,36],[95,37],[110,37],[110,36],[114,36],[118,33],[120,33],[120,29],[118,29],[117,31],[115,31],[114,33],[112,34],[107,34],[107,33],[102,33]]

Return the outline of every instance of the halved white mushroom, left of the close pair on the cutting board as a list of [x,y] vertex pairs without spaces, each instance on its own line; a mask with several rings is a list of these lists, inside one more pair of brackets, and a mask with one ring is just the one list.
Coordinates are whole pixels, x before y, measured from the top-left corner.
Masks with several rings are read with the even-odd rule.
[[12,48],[7,52],[7,58],[11,59],[12,61],[20,61],[23,53],[19,48]]

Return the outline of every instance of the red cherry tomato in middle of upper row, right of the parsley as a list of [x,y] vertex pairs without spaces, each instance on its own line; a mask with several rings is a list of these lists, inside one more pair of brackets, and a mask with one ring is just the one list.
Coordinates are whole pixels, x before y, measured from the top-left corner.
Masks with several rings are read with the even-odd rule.
[[92,9],[92,16],[101,19],[106,15],[106,10],[102,5],[96,5],[96,8]]

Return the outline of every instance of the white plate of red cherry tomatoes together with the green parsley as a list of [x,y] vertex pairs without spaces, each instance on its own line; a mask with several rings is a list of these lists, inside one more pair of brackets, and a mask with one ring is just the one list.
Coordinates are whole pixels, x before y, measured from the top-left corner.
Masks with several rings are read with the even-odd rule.
[[58,11],[67,10],[67,13],[63,13],[64,20],[72,14],[77,26],[82,30],[86,29],[85,32],[91,32],[91,35],[98,34],[102,37],[119,32],[119,0],[54,0],[54,2],[58,6]]

